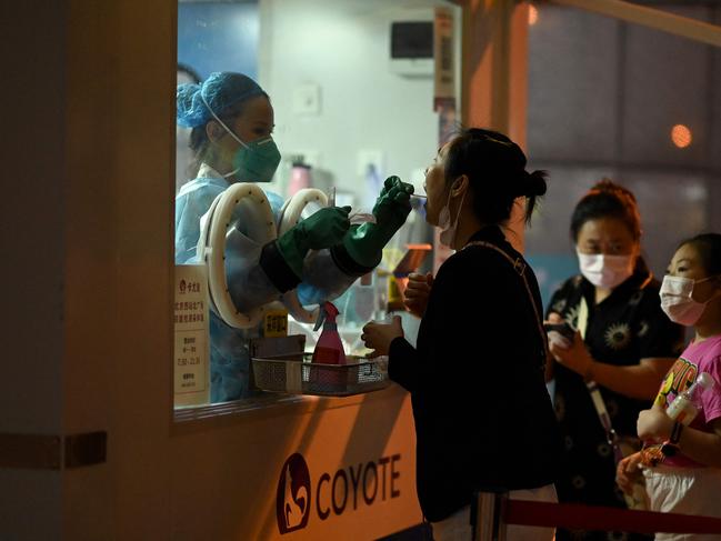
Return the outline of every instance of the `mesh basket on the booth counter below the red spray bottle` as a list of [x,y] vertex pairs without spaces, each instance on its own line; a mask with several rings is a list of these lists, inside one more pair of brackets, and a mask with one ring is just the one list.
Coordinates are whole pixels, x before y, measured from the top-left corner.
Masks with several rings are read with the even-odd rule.
[[283,358],[253,358],[256,385],[270,392],[348,397],[378,391],[390,384],[388,358],[365,359],[347,355],[347,364],[314,363],[310,362],[310,353]]

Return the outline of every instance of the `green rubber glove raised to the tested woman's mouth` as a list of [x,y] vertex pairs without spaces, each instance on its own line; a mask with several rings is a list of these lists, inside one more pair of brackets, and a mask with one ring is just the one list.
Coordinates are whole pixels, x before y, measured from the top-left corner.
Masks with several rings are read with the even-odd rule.
[[411,193],[413,187],[398,177],[385,179],[373,207],[375,223],[365,222],[351,229],[343,238],[343,247],[353,261],[368,268],[380,263],[383,247],[405,223],[411,211]]

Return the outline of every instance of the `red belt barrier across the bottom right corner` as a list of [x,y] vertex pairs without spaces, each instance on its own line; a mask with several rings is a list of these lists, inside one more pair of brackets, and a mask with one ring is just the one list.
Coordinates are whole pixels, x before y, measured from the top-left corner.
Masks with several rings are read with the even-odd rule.
[[505,523],[639,533],[721,533],[721,519],[693,514],[507,500]]

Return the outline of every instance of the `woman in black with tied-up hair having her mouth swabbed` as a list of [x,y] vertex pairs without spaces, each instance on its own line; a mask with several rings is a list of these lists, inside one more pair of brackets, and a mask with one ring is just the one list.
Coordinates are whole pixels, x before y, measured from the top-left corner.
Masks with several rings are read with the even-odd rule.
[[524,168],[521,149],[493,131],[469,129],[443,146],[425,172],[427,220],[458,251],[433,281],[418,348],[399,317],[368,323],[361,337],[372,355],[389,354],[390,378],[411,393],[418,497],[435,541],[471,539],[477,491],[555,501],[561,443],[543,381],[541,298],[503,227],[518,198],[528,198],[529,218],[545,193],[544,173]]

